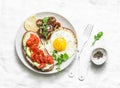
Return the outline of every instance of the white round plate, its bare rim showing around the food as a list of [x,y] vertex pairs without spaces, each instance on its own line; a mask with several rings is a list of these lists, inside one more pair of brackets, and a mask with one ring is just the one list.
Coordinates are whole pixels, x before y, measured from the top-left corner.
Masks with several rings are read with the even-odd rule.
[[[41,13],[35,14],[35,16],[38,17],[38,18],[43,18],[43,17],[46,17],[46,16],[54,16],[57,19],[57,21],[61,23],[62,26],[70,28],[70,29],[72,29],[75,32],[72,24],[67,19],[65,19],[63,16],[61,16],[61,15],[58,15],[56,13],[51,13],[51,12],[41,12]],[[28,62],[26,62],[26,60],[25,60],[25,58],[23,56],[23,53],[22,53],[22,37],[23,37],[23,34],[25,32],[26,32],[26,30],[24,29],[24,23],[22,23],[22,25],[20,26],[20,28],[19,28],[19,30],[17,32],[17,36],[16,36],[16,39],[15,39],[16,51],[17,51],[17,54],[18,54],[19,59],[21,60],[21,62],[27,68],[29,68],[30,70],[32,70],[34,72],[37,72],[37,73],[40,73],[40,74],[53,74],[53,73],[57,73],[57,70],[55,69],[56,67],[54,67],[54,69],[52,71],[50,71],[50,72],[41,72],[41,71],[38,71],[38,70],[34,69],[33,67],[31,67],[28,64]],[[76,52],[75,52],[75,54],[76,54]],[[75,57],[75,54],[71,58],[69,58],[66,62],[61,64],[61,70],[65,69],[66,67],[68,67],[70,65],[70,63],[73,61],[73,59]]]

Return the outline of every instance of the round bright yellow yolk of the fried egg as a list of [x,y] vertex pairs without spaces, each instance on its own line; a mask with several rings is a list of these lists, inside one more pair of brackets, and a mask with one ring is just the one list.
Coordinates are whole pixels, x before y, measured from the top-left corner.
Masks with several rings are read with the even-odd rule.
[[53,47],[55,48],[55,50],[57,51],[63,51],[66,48],[66,40],[64,38],[56,38],[53,41]]

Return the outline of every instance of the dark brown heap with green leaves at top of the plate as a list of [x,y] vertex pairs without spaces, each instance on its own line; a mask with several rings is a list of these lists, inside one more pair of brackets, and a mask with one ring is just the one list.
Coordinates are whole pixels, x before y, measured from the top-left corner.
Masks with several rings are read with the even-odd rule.
[[38,19],[36,25],[39,27],[38,35],[45,40],[50,39],[52,32],[59,28],[61,24],[56,21],[55,17],[44,17],[43,19]]

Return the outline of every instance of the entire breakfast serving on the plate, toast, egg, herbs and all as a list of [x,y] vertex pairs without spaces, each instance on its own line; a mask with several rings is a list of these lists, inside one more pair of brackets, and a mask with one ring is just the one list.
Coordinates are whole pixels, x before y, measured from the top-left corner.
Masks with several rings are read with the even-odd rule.
[[75,54],[77,38],[69,28],[62,27],[53,16],[24,22],[22,50],[27,62],[39,71],[60,71],[60,65]]

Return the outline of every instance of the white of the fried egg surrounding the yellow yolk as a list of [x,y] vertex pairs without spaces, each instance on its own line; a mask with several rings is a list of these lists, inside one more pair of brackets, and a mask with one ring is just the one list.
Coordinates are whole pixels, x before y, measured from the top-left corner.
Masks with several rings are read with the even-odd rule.
[[64,38],[67,42],[66,49],[64,51],[58,52],[58,55],[67,53],[68,56],[71,57],[76,51],[77,39],[72,30],[62,27],[56,29],[51,35],[51,38],[48,40],[48,43],[45,43],[45,48],[47,49],[48,53],[52,55],[53,50],[55,50],[55,48],[53,47],[53,42],[58,37]]

